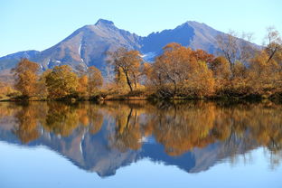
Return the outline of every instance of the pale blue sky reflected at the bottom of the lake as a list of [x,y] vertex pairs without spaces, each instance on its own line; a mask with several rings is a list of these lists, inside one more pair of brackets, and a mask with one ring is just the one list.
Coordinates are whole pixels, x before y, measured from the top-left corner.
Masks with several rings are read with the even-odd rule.
[[251,162],[242,155],[235,164],[223,162],[198,174],[188,174],[173,165],[137,161],[100,178],[71,164],[45,147],[20,147],[0,143],[3,188],[45,187],[281,187],[281,166],[270,170],[263,148],[253,150]]

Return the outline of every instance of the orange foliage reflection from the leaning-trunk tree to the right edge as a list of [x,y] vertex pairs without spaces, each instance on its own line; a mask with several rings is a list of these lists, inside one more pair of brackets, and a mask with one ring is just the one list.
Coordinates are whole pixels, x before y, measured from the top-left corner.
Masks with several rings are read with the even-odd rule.
[[[113,146],[120,151],[139,149],[142,137],[155,136],[169,155],[222,142],[231,156],[258,146],[280,151],[281,106],[272,103],[227,104],[173,102],[112,103],[104,109],[116,119]],[[137,116],[135,117],[135,113]]]

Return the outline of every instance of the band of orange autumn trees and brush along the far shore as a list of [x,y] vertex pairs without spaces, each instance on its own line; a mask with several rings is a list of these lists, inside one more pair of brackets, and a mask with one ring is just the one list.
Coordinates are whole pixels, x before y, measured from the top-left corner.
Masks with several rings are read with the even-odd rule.
[[22,59],[11,71],[13,84],[0,82],[0,101],[282,101],[282,40],[269,28],[266,41],[260,47],[234,33],[220,35],[218,56],[173,42],[153,62],[144,61],[138,51],[119,48],[106,54],[112,68],[107,75],[94,66],[81,65],[73,70],[61,65],[42,71],[36,62]]

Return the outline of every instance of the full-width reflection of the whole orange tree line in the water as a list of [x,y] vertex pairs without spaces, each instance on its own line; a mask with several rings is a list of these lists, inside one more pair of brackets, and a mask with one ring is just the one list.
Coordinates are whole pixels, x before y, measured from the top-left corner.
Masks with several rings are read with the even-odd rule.
[[[5,106],[0,106],[0,111]],[[221,105],[213,102],[107,102],[102,105],[79,103],[31,103],[10,108],[18,125],[14,134],[28,143],[44,132],[71,136],[75,129],[97,134],[104,118],[113,118],[110,147],[120,151],[137,150],[146,136],[164,145],[168,155],[182,155],[196,147],[213,143],[224,145],[222,156],[242,154],[265,146],[281,158],[281,105],[273,103]],[[272,157],[273,162],[277,158]]]

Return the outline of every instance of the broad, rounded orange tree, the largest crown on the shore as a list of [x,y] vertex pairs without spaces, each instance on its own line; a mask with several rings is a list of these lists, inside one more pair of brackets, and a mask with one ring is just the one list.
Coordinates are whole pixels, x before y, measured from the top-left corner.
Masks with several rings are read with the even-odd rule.
[[213,79],[206,61],[210,59],[205,52],[194,52],[178,43],[169,43],[152,66],[146,65],[146,74],[164,98],[209,95],[213,90]]

